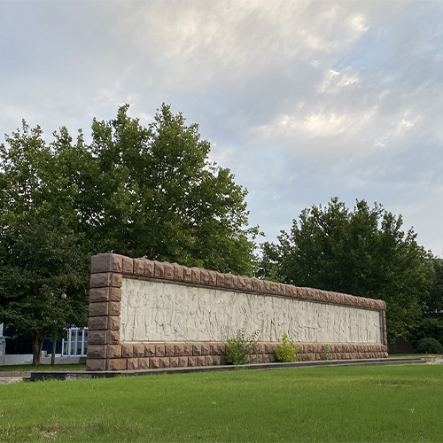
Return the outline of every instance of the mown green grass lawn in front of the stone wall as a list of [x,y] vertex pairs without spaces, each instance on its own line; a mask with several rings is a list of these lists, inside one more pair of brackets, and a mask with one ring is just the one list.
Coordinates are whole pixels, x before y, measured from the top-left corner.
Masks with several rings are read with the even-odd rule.
[[441,442],[443,365],[0,385],[0,441]]

